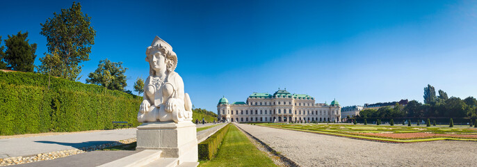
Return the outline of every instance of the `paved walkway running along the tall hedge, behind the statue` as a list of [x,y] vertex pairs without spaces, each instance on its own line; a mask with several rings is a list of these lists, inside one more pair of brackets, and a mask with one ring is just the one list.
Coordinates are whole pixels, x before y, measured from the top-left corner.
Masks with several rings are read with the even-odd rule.
[[[214,125],[199,124],[198,127]],[[51,136],[30,136],[24,138],[0,139],[0,159],[29,156],[45,152],[56,152],[101,145],[129,138],[136,138],[136,128],[113,129],[95,132],[67,133]]]

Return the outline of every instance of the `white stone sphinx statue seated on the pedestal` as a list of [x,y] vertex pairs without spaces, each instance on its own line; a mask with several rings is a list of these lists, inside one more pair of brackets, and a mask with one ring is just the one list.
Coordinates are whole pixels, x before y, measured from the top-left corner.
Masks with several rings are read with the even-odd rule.
[[184,81],[175,72],[177,55],[158,36],[146,50],[149,77],[144,86],[138,122],[181,122],[192,120],[192,103],[184,93]]

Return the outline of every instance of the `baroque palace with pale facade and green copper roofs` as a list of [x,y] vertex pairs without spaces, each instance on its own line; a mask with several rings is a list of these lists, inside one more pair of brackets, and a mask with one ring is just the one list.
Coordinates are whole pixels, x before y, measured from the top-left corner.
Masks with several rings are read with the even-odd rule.
[[315,103],[314,97],[291,94],[285,90],[252,93],[247,102],[229,101],[222,97],[217,104],[218,118],[227,122],[334,122],[341,120],[341,107],[336,100],[330,105]]

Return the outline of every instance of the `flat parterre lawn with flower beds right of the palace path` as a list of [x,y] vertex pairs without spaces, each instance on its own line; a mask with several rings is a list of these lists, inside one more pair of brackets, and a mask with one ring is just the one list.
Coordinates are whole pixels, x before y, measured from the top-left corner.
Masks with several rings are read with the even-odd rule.
[[[421,138],[390,138],[381,136],[372,136],[368,134],[403,134],[423,132],[430,134],[477,134],[477,129],[474,127],[446,127],[446,126],[431,126],[426,125],[411,127],[407,126],[386,126],[386,125],[346,125],[346,124],[284,124],[284,123],[261,123],[257,124],[266,127],[276,127],[282,129],[293,129],[303,132],[314,132],[318,134],[330,134],[334,136],[345,136],[350,138],[362,138],[373,141],[389,141],[397,143],[410,143],[419,141],[438,141],[438,140],[459,140],[459,141],[477,141],[477,138],[463,138],[463,137],[421,137]],[[368,134],[363,134],[368,133]]]

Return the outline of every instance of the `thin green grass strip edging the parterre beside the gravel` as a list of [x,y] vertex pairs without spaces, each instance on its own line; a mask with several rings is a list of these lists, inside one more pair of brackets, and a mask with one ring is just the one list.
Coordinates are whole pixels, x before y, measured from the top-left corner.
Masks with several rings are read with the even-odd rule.
[[[259,125],[264,127],[275,127],[275,126],[267,126],[267,125]],[[351,135],[351,134],[339,134],[339,133],[332,133],[332,132],[321,132],[321,131],[313,131],[313,130],[306,130],[306,129],[296,129],[296,128],[286,128],[286,127],[275,127],[280,129],[289,129],[289,130],[296,130],[302,132],[313,132],[317,134],[328,134],[333,136],[343,136],[348,138],[359,138],[371,141],[385,141],[385,142],[392,142],[392,143],[414,143],[414,142],[423,142],[423,141],[442,141],[442,140],[453,140],[453,141],[477,141],[477,139],[473,138],[419,138],[419,139],[410,139],[410,140],[399,140],[399,139],[391,139],[391,138],[378,138],[378,137],[369,137],[369,136],[358,136],[358,135]]]

